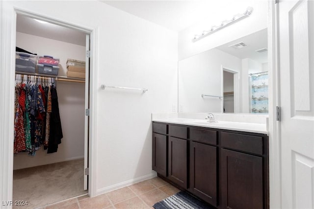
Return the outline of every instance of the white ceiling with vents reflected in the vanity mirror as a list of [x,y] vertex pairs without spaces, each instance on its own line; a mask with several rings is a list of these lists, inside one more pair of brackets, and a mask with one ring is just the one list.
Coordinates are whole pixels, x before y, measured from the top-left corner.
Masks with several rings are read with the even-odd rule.
[[[241,49],[229,47],[239,42],[243,42],[247,46]],[[260,63],[266,63],[268,58],[267,52],[255,52],[262,48],[267,48],[267,28],[221,45],[216,49],[232,54],[240,59],[250,58]]]

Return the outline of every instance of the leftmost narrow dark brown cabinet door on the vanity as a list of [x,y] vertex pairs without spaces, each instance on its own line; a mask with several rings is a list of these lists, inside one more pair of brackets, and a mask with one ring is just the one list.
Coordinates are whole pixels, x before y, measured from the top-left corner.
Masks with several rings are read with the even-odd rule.
[[167,136],[153,133],[153,170],[167,175]]

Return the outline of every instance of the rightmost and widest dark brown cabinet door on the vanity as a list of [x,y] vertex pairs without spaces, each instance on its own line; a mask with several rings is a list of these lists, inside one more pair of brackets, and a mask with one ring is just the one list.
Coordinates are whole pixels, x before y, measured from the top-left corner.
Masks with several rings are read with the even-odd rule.
[[262,157],[221,149],[223,209],[263,209]]

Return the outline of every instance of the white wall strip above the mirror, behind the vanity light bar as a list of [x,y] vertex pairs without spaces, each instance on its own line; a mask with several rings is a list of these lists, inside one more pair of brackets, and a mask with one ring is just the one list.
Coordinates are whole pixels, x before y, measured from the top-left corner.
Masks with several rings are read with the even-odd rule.
[[[233,9],[228,9],[231,6]],[[253,13],[250,17],[210,34],[199,41],[191,41],[194,35],[202,34],[203,30],[209,30],[211,26],[218,25],[226,19],[232,19],[233,15],[244,12],[248,6],[253,7]],[[216,18],[204,19],[179,32],[179,60],[205,52],[266,27],[267,0],[235,1],[235,5],[228,5],[224,10],[220,9]]]

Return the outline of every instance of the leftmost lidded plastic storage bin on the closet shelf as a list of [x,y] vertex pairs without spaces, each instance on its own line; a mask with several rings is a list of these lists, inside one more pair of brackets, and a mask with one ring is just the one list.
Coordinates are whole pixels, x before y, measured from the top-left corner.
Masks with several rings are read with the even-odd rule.
[[37,55],[16,52],[15,53],[15,71],[35,73]]

